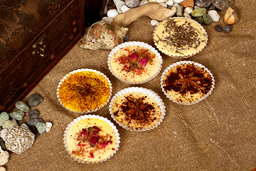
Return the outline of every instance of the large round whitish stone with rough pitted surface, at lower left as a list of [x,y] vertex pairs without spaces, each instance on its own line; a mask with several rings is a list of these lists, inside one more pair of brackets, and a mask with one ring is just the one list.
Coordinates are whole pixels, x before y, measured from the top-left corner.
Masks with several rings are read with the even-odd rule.
[[6,148],[17,154],[25,152],[33,145],[35,135],[28,128],[15,126],[6,134]]

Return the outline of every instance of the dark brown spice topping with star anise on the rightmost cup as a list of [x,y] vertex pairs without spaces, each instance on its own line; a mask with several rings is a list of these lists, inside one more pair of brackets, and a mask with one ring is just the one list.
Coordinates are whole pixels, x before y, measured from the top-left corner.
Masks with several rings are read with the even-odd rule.
[[166,73],[164,85],[165,90],[174,90],[181,94],[207,94],[212,86],[212,78],[204,68],[183,64]]

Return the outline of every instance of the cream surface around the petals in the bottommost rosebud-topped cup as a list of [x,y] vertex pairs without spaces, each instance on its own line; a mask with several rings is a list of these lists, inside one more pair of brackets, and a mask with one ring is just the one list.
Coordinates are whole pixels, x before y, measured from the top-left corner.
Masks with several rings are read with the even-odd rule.
[[[82,129],[86,129],[92,126],[97,126],[97,128],[100,128],[100,137],[106,138],[106,140],[111,140],[112,143],[109,143],[105,148],[97,149],[96,147],[92,147],[88,142],[83,143],[78,140],[78,133]],[[96,118],[87,118],[78,121],[78,123],[75,123],[67,133],[68,150],[70,150],[70,152],[76,150],[82,151],[82,155],[75,155],[75,157],[86,162],[97,162],[100,160],[105,160],[107,157],[112,155],[116,146],[117,136],[115,135],[112,127],[105,123],[105,121]],[[90,155],[90,152],[92,151],[94,157]]]

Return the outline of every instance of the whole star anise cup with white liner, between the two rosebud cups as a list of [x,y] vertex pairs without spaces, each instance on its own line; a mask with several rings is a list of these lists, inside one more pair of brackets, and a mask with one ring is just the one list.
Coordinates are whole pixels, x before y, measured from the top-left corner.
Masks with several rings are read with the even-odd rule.
[[156,128],[164,119],[165,107],[154,91],[130,87],[114,95],[110,114],[122,128],[140,132]]

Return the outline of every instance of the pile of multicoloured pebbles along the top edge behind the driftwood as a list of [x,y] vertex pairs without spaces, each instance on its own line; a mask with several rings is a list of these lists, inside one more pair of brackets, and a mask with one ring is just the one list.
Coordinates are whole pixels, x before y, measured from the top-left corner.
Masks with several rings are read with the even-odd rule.
[[[109,2],[110,10],[106,11],[107,16],[102,19],[112,22],[118,14],[122,14],[129,9],[142,6],[149,2],[158,3],[168,9],[176,7],[176,14],[174,16],[183,16],[188,19],[194,19],[200,24],[208,25],[219,21],[219,11],[227,10],[228,7],[233,5],[234,0],[113,0]],[[159,24],[159,21],[151,20],[152,26],[156,26],[157,24]],[[223,28],[216,25],[215,30],[230,33],[232,27],[231,24]]]

